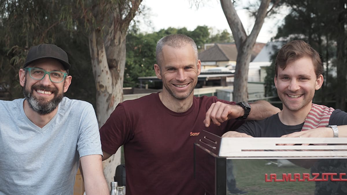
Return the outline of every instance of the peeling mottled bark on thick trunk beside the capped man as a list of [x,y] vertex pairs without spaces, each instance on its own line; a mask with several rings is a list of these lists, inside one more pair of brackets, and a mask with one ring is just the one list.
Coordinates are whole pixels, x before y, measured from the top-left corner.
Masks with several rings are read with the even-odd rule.
[[[110,14],[111,25],[104,38],[103,27],[90,30],[89,49],[96,86],[96,116],[99,127],[109,118],[117,104],[123,101],[123,80],[126,60],[126,32],[142,0],[118,2]],[[121,3],[130,3],[127,15],[122,19]],[[102,9],[101,9],[102,10]],[[96,24],[104,24],[105,13],[93,12]],[[91,25],[92,26],[92,25]],[[116,167],[120,164],[120,149],[103,162],[108,183],[113,181]]]

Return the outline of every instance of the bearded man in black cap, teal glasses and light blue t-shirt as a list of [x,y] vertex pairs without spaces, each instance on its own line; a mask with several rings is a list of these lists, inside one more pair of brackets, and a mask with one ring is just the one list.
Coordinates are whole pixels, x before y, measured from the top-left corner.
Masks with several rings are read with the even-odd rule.
[[79,161],[86,193],[108,194],[94,109],[64,97],[70,67],[58,46],[33,46],[19,70],[25,98],[0,101],[0,195],[73,194]]

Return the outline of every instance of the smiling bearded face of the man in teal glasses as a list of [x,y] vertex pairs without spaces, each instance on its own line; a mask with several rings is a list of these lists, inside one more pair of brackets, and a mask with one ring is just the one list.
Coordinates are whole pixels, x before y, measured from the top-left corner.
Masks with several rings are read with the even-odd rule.
[[[59,61],[51,58],[36,60],[28,67],[66,72]],[[71,83],[71,76],[67,76],[61,83],[51,82],[49,75],[45,75],[42,80],[36,80],[31,78],[29,73],[23,69],[19,71],[19,78],[29,107],[40,115],[49,114],[57,108]]]

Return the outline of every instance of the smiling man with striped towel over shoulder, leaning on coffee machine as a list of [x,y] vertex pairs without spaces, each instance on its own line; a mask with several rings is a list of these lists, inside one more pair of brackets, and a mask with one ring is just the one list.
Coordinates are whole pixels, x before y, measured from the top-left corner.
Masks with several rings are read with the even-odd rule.
[[[274,83],[283,109],[266,119],[247,121],[223,137],[347,137],[346,112],[312,104],[314,92],[324,79],[319,54],[310,45],[304,41],[284,45],[275,71]],[[346,170],[346,159],[320,159],[311,168],[311,172],[319,173]],[[347,184],[316,182],[315,194],[347,194]]]

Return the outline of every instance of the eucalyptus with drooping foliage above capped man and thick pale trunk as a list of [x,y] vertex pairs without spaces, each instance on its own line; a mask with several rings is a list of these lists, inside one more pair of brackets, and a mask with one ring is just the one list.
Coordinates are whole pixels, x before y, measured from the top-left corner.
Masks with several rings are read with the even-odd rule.
[[[122,101],[125,38],[141,2],[142,0],[0,0],[3,35],[1,45],[5,48],[11,65],[18,68],[22,66],[28,48],[32,45],[54,43],[68,50],[71,46],[65,45],[71,43],[68,40],[85,36],[96,86],[96,115],[101,126]],[[66,42],[62,36],[65,36]],[[69,57],[74,57],[74,53],[69,53]],[[84,80],[76,82],[83,83]],[[108,181],[112,180],[119,163],[119,152],[104,163]]]

